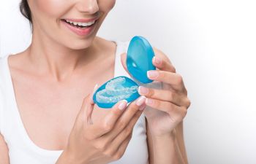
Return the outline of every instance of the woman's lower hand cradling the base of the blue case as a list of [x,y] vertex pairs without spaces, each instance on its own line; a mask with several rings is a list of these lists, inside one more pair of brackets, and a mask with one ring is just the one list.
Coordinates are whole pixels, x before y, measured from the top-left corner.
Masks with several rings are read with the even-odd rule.
[[[69,135],[67,148],[57,163],[104,164],[124,155],[132,138],[132,130],[145,109],[146,98],[140,96],[127,106],[119,101],[98,122],[91,122],[94,109],[92,94],[84,98],[83,105]],[[125,109],[125,110],[124,110]]]

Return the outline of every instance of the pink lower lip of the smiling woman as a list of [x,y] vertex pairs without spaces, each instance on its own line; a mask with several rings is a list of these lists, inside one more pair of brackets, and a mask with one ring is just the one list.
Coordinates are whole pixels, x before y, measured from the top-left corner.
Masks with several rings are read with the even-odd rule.
[[69,23],[65,22],[64,20],[61,20],[61,22],[64,23],[64,26],[69,28],[69,30],[73,31],[75,34],[78,34],[79,36],[87,36],[87,35],[91,34],[91,31],[94,30],[97,20],[95,21],[95,23],[92,26],[90,26],[88,28],[77,28],[77,27],[72,26]]

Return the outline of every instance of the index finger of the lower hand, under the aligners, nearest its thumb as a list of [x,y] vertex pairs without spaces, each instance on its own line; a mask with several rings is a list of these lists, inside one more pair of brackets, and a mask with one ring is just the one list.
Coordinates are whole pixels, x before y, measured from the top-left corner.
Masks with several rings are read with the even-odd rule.
[[111,109],[110,112],[104,117],[102,121],[95,122],[93,125],[86,127],[86,131],[90,139],[98,138],[105,133],[108,133],[121,116],[124,109],[127,107],[127,101],[118,101]]

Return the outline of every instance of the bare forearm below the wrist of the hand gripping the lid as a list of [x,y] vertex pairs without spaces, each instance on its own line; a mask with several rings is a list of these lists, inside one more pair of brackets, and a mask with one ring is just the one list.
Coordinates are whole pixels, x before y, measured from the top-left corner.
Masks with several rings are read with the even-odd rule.
[[152,142],[154,159],[151,164],[184,164],[175,130],[168,136],[152,136]]

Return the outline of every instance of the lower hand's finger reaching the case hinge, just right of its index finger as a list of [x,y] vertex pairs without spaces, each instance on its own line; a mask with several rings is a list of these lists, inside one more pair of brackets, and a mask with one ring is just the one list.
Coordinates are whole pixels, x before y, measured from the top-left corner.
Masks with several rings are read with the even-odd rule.
[[116,138],[116,136],[118,136],[118,133],[120,133],[121,130],[127,127],[129,122],[134,117],[135,119],[138,117],[136,113],[139,112],[140,114],[140,111],[142,111],[145,108],[145,105],[146,105],[145,101],[146,101],[146,97],[140,96],[140,98],[138,98],[136,101],[133,101],[131,104],[129,104],[124,114],[122,114],[121,117],[117,120],[113,130],[110,131],[110,133],[106,133],[102,137],[106,138],[109,141],[113,141],[113,139]]

